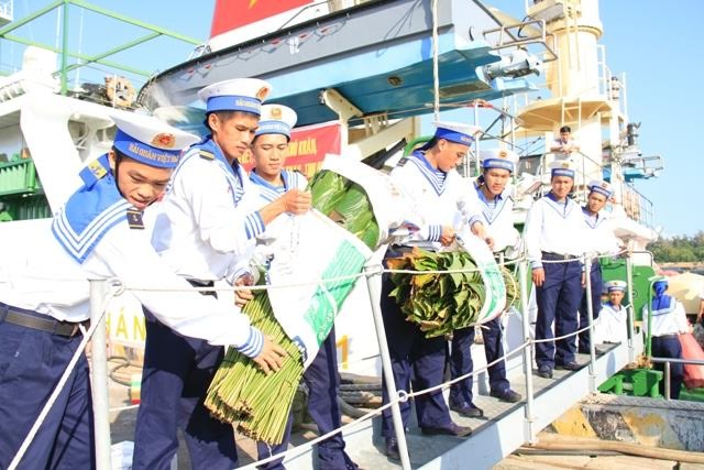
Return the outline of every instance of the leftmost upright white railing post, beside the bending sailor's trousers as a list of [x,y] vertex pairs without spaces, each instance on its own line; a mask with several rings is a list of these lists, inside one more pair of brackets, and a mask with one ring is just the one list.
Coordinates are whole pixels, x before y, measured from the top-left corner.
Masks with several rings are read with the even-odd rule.
[[106,317],[102,315],[106,281],[90,281],[90,323],[98,324],[91,346],[92,409],[96,434],[96,469],[110,470],[110,407],[108,400],[108,353]]

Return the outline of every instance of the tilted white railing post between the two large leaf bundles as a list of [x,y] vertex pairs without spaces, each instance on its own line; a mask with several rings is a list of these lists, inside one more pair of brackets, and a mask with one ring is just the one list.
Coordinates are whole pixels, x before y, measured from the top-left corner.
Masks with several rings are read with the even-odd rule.
[[382,369],[386,390],[392,402],[392,420],[394,422],[394,431],[398,441],[398,453],[400,455],[400,464],[404,470],[410,470],[410,458],[408,457],[408,446],[406,445],[406,429],[400,416],[400,407],[396,398],[396,383],[394,382],[394,370],[392,368],[392,358],[388,353],[388,343],[386,342],[386,330],[384,329],[384,319],[376,298],[380,296],[380,285],[382,276],[382,266],[376,264],[366,264],[364,266],[364,275],[366,277],[366,287],[369,288],[370,303],[372,304],[372,315],[374,317],[374,327],[376,329],[376,339],[378,341],[378,352],[382,357]]

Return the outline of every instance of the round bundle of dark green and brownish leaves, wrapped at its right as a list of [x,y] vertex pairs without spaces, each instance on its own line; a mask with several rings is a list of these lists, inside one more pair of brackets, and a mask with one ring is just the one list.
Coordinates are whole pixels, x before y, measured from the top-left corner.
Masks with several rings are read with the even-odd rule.
[[[387,260],[391,270],[430,271],[427,274],[392,273],[396,298],[408,321],[416,323],[432,338],[476,324],[486,292],[476,264],[464,251],[431,252],[414,248],[402,258]],[[513,278],[505,269],[503,274]],[[451,271],[432,273],[432,271]],[[464,271],[464,272],[452,272]],[[508,285],[508,283],[507,283]],[[517,283],[513,280],[512,285]],[[517,291],[512,291],[512,297]],[[508,297],[508,295],[507,295]],[[507,304],[509,305],[509,304]]]

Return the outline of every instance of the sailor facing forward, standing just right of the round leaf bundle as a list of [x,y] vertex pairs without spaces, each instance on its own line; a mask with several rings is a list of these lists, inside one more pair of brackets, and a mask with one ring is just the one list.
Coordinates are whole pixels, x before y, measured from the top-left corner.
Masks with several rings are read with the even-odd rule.
[[[515,249],[519,241],[518,230],[514,228],[512,215],[513,199],[506,185],[514,173],[518,155],[509,150],[481,151],[483,173],[476,184],[476,195],[481,201],[483,223],[488,236],[494,240],[494,252],[498,253],[507,248]],[[501,317],[482,325],[484,353],[486,362],[491,363],[504,356],[503,331]],[[472,345],[474,343],[474,327],[458,329],[452,334],[452,350],[450,353],[450,372],[452,379],[466,375],[474,370],[472,360]],[[506,363],[502,360],[488,369],[490,394],[504,402],[516,403],[520,394],[510,389],[506,379]],[[470,376],[453,383],[450,389],[450,409],[463,416],[481,417],[484,412],[477,407],[472,398],[473,378]]]

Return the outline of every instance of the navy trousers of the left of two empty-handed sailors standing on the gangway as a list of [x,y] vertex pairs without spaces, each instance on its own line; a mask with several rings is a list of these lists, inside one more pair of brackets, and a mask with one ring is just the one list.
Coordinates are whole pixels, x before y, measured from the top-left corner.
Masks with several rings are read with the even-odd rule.
[[[582,266],[575,260],[544,263],[543,269],[544,283],[536,287],[538,303],[536,339],[552,339],[556,336],[574,334],[578,325],[578,308],[582,298]],[[565,364],[574,361],[575,352],[576,339],[573,336],[557,341],[538,342],[536,343],[536,363],[539,368],[552,369],[556,363]]]

